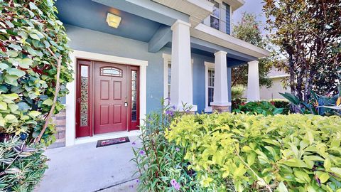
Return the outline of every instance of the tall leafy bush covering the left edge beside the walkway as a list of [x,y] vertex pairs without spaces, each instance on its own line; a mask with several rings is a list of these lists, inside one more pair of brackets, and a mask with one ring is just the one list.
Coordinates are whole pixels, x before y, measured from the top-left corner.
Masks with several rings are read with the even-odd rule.
[[0,191],[33,191],[40,181],[43,147],[55,140],[50,117],[63,110],[59,97],[72,81],[68,39],[53,4],[0,1]]

